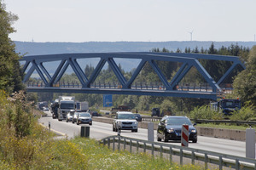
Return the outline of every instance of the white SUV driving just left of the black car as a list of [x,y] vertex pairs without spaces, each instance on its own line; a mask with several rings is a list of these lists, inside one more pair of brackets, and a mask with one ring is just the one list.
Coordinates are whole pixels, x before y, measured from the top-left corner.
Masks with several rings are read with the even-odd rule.
[[113,132],[131,130],[137,133],[137,120],[130,111],[118,111],[113,119]]

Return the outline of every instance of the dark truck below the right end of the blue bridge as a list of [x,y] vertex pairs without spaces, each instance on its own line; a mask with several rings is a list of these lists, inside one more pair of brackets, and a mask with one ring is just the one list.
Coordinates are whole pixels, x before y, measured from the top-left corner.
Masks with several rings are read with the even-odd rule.
[[213,111],[220,111],[225,116],[230,116],[234,111],[241,109],[240,99],[220,99],[218,102],[210,104]]

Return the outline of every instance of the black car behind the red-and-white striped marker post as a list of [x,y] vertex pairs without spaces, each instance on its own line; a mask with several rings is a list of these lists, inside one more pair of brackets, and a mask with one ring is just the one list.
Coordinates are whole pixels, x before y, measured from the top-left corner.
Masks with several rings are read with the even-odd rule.
[[189,125],[189,140],[197,142],[197,131],[187,116],[164,116],[157,127],[157,141],[181,140],[183,124]]

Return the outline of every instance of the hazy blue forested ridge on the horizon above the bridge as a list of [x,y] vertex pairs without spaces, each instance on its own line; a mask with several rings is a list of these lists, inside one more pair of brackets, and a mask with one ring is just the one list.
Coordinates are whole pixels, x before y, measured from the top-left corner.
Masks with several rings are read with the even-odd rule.
[[[252,48],[256,42],[213,42],[215,48],[231,44]],[[108,52],[149,52],[152,48],[166,48],[182,52],[185,48],[209,48],[212,42],[15,42],[16,53],[26,55]]]

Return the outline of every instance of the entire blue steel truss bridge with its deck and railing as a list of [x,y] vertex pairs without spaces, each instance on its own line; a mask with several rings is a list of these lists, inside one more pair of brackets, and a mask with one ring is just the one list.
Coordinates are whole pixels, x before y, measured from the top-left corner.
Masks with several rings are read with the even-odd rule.
[[[84,59],[84,60],[83,60]],[[96,67],[86,76],[81,65],[87,65],[86,59],[96,61]],[[137,60],[131,77],[125,77],[125,73],[119,68],[118,60]],[[212,59],[230,61],[231,66],[224,72],[222,77],[215,82],[206,69],[201,65],[199,59]],[[28,92],[49,92],[49,93],[81,93],[81,94],[131,94],[131,95],[153,95],[172,96],[182,98],[198,98],[217,100],[224,93],[232,90],[230,84],[224,84],[234,69],[240,65],[245,69],[240,59],[236,56],[210,55],[210,54],[181,54],[181,53],[90,53],[90,54],[48,54],[25,56],[20,59],[24,62],[23,72]],[[50,74],[47,65],[58,61],[54,73]],[[180,63],[176,74],[166,78],[158,61]],[[102,68],[108,63],[113,71],[116,80],[113,82],[97,82]],[[136,78],[141,76],[140,72],[148,63],[159,78],[159,82],[137,82]],[[127,62],[129,65],[129,62]],[[61,77],[71,67],[78,81],[61,82]],[[133,65],[134,66],[134,65]],[[205,79],[204,83],[182,83],[189,70],[195,69]],[[30,81],[32,73],[38,73],[38,82]]]

